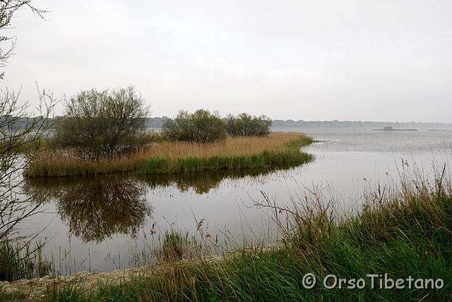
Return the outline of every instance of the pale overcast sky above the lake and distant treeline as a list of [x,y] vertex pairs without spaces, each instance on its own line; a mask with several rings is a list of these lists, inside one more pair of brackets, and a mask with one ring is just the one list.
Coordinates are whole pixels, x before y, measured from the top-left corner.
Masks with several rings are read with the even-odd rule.
[[[452,1],[33,0],[6,84],[134,85],[152,116],[452,122]],[[64,110],[62,104],[57,114]]]

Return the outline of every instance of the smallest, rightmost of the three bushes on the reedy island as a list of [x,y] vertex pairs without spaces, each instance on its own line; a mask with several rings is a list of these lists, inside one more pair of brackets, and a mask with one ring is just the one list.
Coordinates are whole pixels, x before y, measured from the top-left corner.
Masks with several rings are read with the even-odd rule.
[[270,133],[271,119],[265,115],[251,116],[246,113],[237,117],[229,114],[226,117],[226,133],[228,135],[267,135]]

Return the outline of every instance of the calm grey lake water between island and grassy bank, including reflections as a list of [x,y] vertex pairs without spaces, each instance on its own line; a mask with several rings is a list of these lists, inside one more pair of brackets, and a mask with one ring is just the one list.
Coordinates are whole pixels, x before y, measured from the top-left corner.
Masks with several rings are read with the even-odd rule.
[[227,238],[237,246],[244,238],[267,243],[278,234],[272,212],[255,206],[264,201],[263,193],[285,205],[307,191],[320,191],[346,211],[359,204],[364,179],[396,176],[402,159],[426,174],[432,162],[448,161],[452,129],[432,130],[298,129],[319,140],[304,148],[316,159],[282,171],[33,181],[30,194],[46,194],[50,201],[44,213],[22,225],[22,232],[45,227],[40,234],[48,241],[45,254],[60,274],[129,267],[131,255],[152,241],[151,229],[200,234],[197,222],[202,219],[203,234],[218,236],[220,243]]

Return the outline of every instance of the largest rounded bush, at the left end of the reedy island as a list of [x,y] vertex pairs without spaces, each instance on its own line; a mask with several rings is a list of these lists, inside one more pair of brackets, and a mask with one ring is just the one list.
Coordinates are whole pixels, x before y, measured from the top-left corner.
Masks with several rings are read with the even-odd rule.
[[83,90],[66,101],[66,116],[56,127],[55,140],[78,154],[99,160],[135,150],[146,143],[149,107],[133,86],[117,90]]

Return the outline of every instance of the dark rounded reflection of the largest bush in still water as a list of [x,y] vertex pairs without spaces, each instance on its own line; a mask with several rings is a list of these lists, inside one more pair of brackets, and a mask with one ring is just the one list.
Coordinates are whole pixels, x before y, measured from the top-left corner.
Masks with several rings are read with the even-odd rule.
[[144,181],[133,176],[32,179],[29,193],[55,200],[69,235],[84,242],[104,241],[114,234],[135,236],[153,212]]

